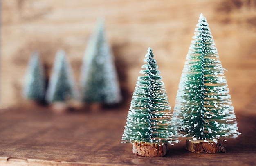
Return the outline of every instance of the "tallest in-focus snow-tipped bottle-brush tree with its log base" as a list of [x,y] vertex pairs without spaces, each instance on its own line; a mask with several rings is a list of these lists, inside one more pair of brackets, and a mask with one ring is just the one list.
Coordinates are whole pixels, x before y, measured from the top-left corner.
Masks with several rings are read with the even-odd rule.
[[201,14],[186,57],[174,119],[196,153],[224,152],[220,137],[236,138],[238,127],[213,37]]

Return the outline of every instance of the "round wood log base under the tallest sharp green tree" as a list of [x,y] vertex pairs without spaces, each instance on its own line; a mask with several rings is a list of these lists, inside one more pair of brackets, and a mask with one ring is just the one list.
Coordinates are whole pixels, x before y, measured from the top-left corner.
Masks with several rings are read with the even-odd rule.
[[222,145],[220,140],[218,143],[208,140],[209,142],[204,142],[204,140],[186,140],[186,149],[194,153],[222,153],[226,152],[225,147]]

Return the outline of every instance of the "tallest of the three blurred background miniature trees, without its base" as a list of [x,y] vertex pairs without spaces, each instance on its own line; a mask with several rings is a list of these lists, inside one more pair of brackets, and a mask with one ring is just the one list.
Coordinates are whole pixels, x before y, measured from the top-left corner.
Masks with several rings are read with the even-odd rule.
[[100,20],[90,37],[81,68],[82,100],[84,103],[113,105],[121,101],[121,91],[112,52]]

